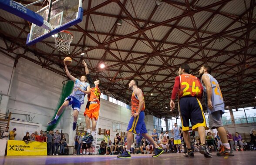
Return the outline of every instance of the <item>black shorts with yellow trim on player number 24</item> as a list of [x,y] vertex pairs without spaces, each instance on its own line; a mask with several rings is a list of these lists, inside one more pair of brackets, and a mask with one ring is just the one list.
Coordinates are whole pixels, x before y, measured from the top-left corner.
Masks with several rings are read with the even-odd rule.
[[189,120],[192,129],[197,131],[200,126],[209,129],[206,126],[205,114],[202,109],[202,104],[198,98],[184,97],[179,99],[179,115],[182,121],[182,131],[189,131]]

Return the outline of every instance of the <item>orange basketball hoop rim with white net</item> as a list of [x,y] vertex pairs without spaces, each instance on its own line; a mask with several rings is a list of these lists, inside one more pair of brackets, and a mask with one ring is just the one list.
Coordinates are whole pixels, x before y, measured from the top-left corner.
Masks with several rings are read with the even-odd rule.
[[55,48],[57,51],[69,51],[73,40],[73,34],[67,30],[62,30],[55,37]]

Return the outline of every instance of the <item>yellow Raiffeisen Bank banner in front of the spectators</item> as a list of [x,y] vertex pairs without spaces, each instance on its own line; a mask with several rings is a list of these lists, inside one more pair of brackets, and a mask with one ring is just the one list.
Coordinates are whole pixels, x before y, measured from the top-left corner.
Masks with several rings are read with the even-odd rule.
[[20,140],[8,140],[7,156],[13,155],[47,155],[47,143],[31,141],[26,144]]

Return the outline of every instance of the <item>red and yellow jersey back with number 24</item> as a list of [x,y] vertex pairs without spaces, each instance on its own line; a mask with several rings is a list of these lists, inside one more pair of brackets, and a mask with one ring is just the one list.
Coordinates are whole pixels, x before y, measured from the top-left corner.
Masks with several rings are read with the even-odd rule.
[[180,89],[179,98],[192,96],[201,98],[202,97],[202,84],[199,79],[192,74],[181,74],[180,78]]

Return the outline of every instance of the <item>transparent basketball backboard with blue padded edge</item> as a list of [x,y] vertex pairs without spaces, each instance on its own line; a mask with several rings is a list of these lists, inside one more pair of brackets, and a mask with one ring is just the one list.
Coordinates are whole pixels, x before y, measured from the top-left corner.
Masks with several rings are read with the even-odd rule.
[[[47,37],[67,29],[83,20],[82,0],[56,0],[52,3],[50,24],[53,30],[47,30],[36,24],[31,25],[27,36],[27,45],[33,45]],[[37,11],[40,16],[47,20],[49,5]]]

